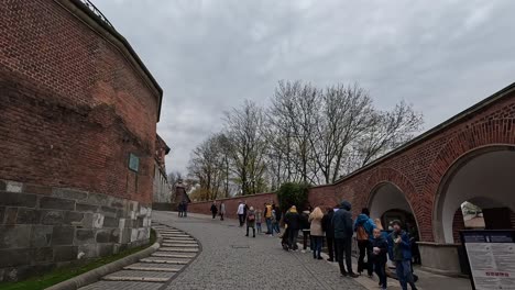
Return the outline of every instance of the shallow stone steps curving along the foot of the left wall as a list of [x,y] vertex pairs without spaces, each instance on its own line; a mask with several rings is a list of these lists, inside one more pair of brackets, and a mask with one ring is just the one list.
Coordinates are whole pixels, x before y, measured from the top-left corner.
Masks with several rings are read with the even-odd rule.
[[199,253],[199,245],[190,235],[174,227],[153,223],[152,227],[163,236],[160,249],[139,263],[107,275],[100,281],[81,290],[156,290],[178,275]]

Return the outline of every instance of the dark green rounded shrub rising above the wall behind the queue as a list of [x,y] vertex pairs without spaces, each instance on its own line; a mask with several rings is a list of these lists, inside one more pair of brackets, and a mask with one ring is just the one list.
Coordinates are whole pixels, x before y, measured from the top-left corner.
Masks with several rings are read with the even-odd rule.
[[287,211],[292,205],[298,211],[308,203],[309,185],[299,182],[283,183],[277,190],[277,200],[282,212]]

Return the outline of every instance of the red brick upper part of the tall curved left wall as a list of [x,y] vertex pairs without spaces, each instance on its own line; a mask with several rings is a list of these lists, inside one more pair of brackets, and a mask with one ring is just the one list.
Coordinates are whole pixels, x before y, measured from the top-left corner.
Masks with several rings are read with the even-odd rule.
[[151,203],[158,104],[120,48],[54,1],[0,19],[0,178]]

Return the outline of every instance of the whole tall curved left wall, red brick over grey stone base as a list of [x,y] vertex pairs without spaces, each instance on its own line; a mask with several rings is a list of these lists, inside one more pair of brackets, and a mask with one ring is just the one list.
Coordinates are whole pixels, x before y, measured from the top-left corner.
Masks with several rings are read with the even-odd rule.
[[150,236],[161,89],[78,2],[0,1],[0,280]]

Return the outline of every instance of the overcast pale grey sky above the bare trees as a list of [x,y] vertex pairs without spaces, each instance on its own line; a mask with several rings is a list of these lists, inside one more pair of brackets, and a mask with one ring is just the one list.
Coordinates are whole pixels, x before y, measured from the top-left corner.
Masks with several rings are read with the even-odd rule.
[[164,90],[167,171],[277,80],[360,82],[425,130],[515,81],[515,1],[95,0]]

